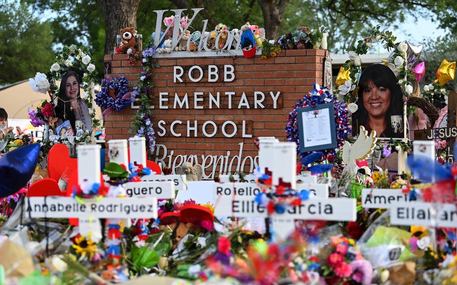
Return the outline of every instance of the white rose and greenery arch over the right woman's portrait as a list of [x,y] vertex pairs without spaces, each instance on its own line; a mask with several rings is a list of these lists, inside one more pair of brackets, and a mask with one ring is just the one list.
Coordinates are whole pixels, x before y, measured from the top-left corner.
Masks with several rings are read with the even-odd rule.
[[374,27],[370,31],[369,37],[360,40],[357,46],[348,49],[349,60],[343,64],[343,67],[345,70],[350,71],[350,79],[346,80],[345,84],[341,84],[338,91],[339,95],[346,96],[345,101],[349,103],[348,109],[351,113],[356,112],[358,109],[357,99],[359,87],[357,85],[359,84],[359,79],[362,74],[362,59],[360,58],[360,55],[367,54],[368,49],[376,42],[381,42],[383,47],[389,51],[393,49],[389,58],[394,59],[394,62],[387,63],[387,65],[396,74],[398,84],[403,91],[403,95],[406,97],[405,100],[407,100],[413,92],[411,82],[408,80],[409,78],[414,78],[414,74],[412,73],[412,70],[408,68],[408,60],[406,58],[406,52],[408,51],[407,42],[396,43],[395,40],[397,38],[393,36],[392,32],[381,32],[380,28],[381,25]]

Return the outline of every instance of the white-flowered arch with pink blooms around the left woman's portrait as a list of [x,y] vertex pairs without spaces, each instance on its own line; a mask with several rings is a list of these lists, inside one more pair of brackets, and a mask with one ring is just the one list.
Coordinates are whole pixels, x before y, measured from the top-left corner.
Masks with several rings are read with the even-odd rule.
[[[60,78],[60,74],[62,71],[63,66],[67,66],[68,70],[70,67],[73,67],[73,63],[71,62],[71,58],[74,58],[78,60],[82,66],[86,66],[86,69],[88,72],[84,73],[82,81],[80,82],[80,86],[83,87],[84,92],[81,94],[81,98],[84,100],[86,103],[88,109],[89,109],[89,115],[90,118],[92,119],[92,129],[99,126],[99,120],[95,118],[95,110],[92,107],[92,92],[91,90],[93,89],[93,82],[95,80],[95,74],[93,71],[95,71],[95,65],[91,63],[91,56],[89,49],[84,46],[76,47],[76,46],[65,46],[62,49],[62,53],[60,53],[57,56],[57,61],[52,64],[50,71],[47,74],[37,72],[35,75],[35,78],[30,78],[29,79],[29,84],[32,86],[33,91],[35,92],[40,92],[40,93],[48,93],[49,96],[51,97],[51,102],[55,102],[57,99],[58,93],[59,93],[59,86],[57,86],[57,81]],[[44,101],[36,111],[34,118],[35,119],[35,124],[44,124],[45,122],[50,123],[53,125],[56,121],[53,116],[46,116],[43,114],[41,117],[41,109],[42,108],[48,108],[49,102]],[[51,103],[52,104],[52,103]],[[54,104],[52,104],[54,107]],[[30,114],[30,111],[29,111]],[[36,116],[38,116],[41,119],[45,120],[37,120]]]

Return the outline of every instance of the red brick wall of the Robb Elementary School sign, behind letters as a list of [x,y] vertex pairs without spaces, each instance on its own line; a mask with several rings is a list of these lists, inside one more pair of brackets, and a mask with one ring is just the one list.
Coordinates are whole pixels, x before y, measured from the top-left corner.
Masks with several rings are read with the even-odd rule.
[[[105,55],[105,62],[111,61],[110,76],[124,75],[129,80],[129,84],[133,87],[138,79],[138,73],[141,71],[140,62],[130,65],[126,60],[126,55]],[[287,116],[293,108],[296,100],[302,98],[307,92],[312,90],[312,83],[322,84],[323,74],[323,50],[287,50],[282,52],[275,58],[262,60],[259,56],[246,59],[243,57],[218,57],[218,58],[182,58],[182,59],[159,59],[160,68],[155,68],[153,82],[155,97],[152,99],[152,104],[155,105],[153,113],[154,128],[156,133],[159,131],[157,123],[159,120],[166,121],[167,134],[163,137],[157,136],[157,144],[165,145],[167,154],[170,155],[173,151],[172,160],[177,166],[181,162],[179,155],[197,155],[198,163],[201,164],[201,156],[227,156],[227,151],[230,151],[230,159],[238,155],[240,151],[240,143],[243,144],[243,157],[251,156],[255,158],[257,151],[254,146],[254,138],[257,136],[276,136],[284,141],[286,132],[284,130]],[[173,66],[181,66],[184,68],[184,74],[188,68],[193,65],[202,67],[205,71],[203,80],[207,81],[208,65],[223,66],[230,64],[235,67],[235,80],[233,82],[191,82],[187,76],[182,78],[183,83],[173,83]],[[222,76],[221,68],[219,68],[219,78]],[[197,76],[198,77],[198,74]],[[225,91],[236,92],[233,97],[234,108],[229,109],[227,99],[222,100],[222,94]],[[278,108],[274,109],[273,101],[265,100],[264,105],[267,108],[242,108],[238,109],[237,104],[241,98],[241,94],[245,92],[249,98],[249,103],[252,105],[254,99],[254,91],[262,91],[266,98],[270,97],[270,91],[274,93],[280,91],[278,99]],[[169,92],[169,109],[159,109],[159,92]],[[189,109],[173,109],[174,94],[178,93],[180,98],[185,93],[189,96]],[[204,109],[193,108],[193,92],[204,92],[204,101],[202,104]],[[213,95],[215,92],[220,92],[221,101],[220,108],[208,108],[208,93]],[[171,107],[171,108],[170,108]],[[251,106],[253,107],[253,106]],[[122,112],[113,111],[105,118],[106,140],[114,138],[128,138],[132,134],[129,133],[132,116],[136,109],[126,108]],[[178,125],[175,128],[176,132],[181,132],[183,135],[175,137],[170,134],[169,126],[174,120],[181,120],[183,125]],[[198,120],[198,137],[186,137],[186,121]],[[216,122],[220,126],[224,121],[232,120],[237,123],[239,131],[234,137],[224,137],[220,129],[213,137],[205,137],[201,132],[201,125],[206,120]],[[241,136],[241,121],[246,121],[247,132],[252,134],[252,138],[243,138]],[[191,124],[191,125],[192,125]],[[212,127],[208,127],[208,131],[212,131]],[[232,129],[227,128],[227,132],[231,133]],[[193,133],[193,132],[192,132]],[[161,158],[163,148],[159,148],[158,157]],[[173,162],[166,163],[173,166]],[[206,161],[208,164],[209,161]],[[234,164],[237,161],[234,161]],[[218,162],[220,164],[220,161]],[[245,172],[249,172],[251,160],[248,159],[245,163]],[[213,171],[213,167],[205,169],[208,174]],[[219,173],[219,169],[216,169]]]

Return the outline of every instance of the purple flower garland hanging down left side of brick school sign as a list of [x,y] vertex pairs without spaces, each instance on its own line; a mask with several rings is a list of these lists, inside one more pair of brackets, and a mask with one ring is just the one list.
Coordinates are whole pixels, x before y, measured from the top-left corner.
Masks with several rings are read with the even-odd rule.
[[[151,122],[154,114],[151,112],[152,108],[150,104],[151,100],[154,98],[152,95],[152,88],[154,87],[152,82],[152,69],[160,67],[157,63],[157,59],[152,57],[156,52],[157,50],[156,47],[154,47],[154,41],[151,36],[151,40],[141,52],[143,56],[141,72],[138,74],[138,83],[132,91],[132,100],[137,98],[137,101],[140,102],[140,106],[137,113],[133,116],[134,122],[132,129],[129,131],[135,131],[135,135],[144,136],[146,138],[146,150],[149,159],[152,158],[156,145],[155,131]],[[138,58],[138,55],[133,58]]]

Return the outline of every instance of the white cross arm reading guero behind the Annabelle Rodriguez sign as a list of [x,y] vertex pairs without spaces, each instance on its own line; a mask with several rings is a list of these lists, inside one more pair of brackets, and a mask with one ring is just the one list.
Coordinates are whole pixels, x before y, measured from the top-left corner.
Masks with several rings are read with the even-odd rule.
[[128,197],[156,197],[158,199],[174,199],[175,187],[173,182],[128,182],[124,188]]

